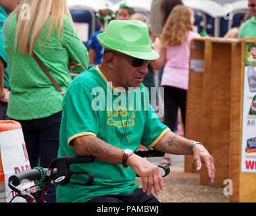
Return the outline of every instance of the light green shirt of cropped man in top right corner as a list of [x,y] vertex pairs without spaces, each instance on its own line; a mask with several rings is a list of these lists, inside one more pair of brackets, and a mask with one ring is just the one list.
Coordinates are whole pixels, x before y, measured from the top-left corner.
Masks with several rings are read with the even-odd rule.
[[238,38],[243,38],[245,36],[256,37],[256,17],[253,16],[246,22],[244,22],[240,28]]

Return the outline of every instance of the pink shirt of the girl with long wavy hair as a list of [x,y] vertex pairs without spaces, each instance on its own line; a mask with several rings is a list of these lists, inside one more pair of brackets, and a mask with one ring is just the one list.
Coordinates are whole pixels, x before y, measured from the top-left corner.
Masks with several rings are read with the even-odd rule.
[[165,46],[166,64],[161,78],[161,86],[188,89],[190,41],[199,37],[197,32],[189,32],[184,45]]

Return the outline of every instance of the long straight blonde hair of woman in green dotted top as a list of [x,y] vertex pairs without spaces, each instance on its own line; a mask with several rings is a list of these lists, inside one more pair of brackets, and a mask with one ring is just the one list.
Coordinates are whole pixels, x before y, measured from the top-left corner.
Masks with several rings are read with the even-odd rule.
[[[24,5],[29,11],[27,17],[24,17]],[[14,48],[19,47],[21,53],[25,55],[28,52],[32,54],[34,43],[48,18],[51,18],[51,24],[45,41],[49,39],[53,27],[56,29],[57,37],[60,38],[65,15],[72,20],[66,0],[22,0],[9,17],[14,14],[17,20]]]

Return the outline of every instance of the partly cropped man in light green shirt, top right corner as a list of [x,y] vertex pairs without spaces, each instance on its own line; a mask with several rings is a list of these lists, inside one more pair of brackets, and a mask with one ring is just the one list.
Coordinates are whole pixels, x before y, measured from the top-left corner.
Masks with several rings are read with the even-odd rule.
[[252,17],[242,24],[239,38],[256,36],[256,0],[248,0],[248,7]]

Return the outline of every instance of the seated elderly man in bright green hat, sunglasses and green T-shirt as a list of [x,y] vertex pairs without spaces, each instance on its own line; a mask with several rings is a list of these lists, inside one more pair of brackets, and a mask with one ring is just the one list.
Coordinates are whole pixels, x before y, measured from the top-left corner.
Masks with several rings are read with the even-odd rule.
[[[161,124],[141,84],[147,64],[159,54],[151,48],[147,25],[114,20],[99,34],[103,61],[76,77],[63,99],[59,156],[93,155],[95,162],[74,165],[95,176],[57,186],[58,202],[158,202],[151,194],[164,190],[159,168],[133,152],[142,144],[170,154],[194,155],[197,169],[205,163],[209,182],[215,178],[213,157],[203,144],[182,138]],[[136,173],[142,188],[135,184]],[[86,179],[84,179],[86,180]]]

